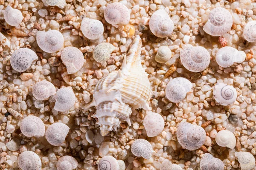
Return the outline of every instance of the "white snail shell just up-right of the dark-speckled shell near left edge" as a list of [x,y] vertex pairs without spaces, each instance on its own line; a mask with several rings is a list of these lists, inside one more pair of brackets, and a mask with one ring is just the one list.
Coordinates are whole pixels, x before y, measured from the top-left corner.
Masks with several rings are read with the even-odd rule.
[[47,53],[54,53],[60,50],[64,43],[63,35],[57,30],[38,31],[36,39],[38,46]]

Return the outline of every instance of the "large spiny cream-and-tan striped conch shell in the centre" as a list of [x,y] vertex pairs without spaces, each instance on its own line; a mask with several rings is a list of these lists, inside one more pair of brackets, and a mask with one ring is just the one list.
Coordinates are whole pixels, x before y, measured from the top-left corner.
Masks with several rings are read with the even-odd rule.
[[[148,74],[141,65],[140,53],[142,42],[135,36],[128,57],[124,57],[122,68],[102,77],[94,91],[93,101],[85,109],[96,106],[94,115],[98,118],[102,136],[116,129],[120,121],[128,121],[132,110],[143,108],[150,110],[148,101],[151,88]],[[58,93],[58,92],[57,92]]]

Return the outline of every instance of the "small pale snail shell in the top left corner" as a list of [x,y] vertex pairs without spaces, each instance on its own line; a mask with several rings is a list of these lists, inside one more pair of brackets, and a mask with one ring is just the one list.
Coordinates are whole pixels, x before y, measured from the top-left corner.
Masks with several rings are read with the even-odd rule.
[[10,26],[19,26],[23,20],[23,16],[20,10],[13,9],[11,6],[6,6],[3,11],[4,20]]

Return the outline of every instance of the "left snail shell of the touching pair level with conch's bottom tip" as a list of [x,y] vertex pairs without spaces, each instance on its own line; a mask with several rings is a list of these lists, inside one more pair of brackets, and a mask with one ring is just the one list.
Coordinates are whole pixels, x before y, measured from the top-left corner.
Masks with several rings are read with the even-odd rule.
[[36,116],[27,116],[22,119],[20,124],[20,131],[27,137],[41,137],[44,136],[45,126],[44,122]]

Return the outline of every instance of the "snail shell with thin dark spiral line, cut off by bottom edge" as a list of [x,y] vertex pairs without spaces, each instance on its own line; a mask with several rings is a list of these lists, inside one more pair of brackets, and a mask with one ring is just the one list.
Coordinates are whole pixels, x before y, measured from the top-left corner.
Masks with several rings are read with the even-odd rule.
[[103,156],[99,160],[98,170],[119,170],[118,161],[113,156]]

